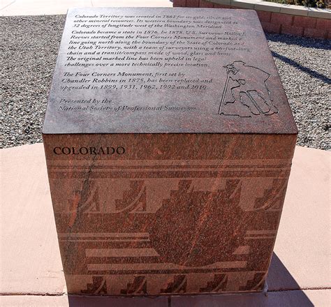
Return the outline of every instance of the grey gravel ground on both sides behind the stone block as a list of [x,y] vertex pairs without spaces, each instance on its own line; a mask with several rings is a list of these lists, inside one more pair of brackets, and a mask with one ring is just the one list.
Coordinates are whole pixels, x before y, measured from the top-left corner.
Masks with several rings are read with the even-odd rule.
[[[64,20],[64,15],[0,19],[1,147],[42,142]],[[267,40],[299,128],[297,144],[328,149],[331,41],[278,34]]]

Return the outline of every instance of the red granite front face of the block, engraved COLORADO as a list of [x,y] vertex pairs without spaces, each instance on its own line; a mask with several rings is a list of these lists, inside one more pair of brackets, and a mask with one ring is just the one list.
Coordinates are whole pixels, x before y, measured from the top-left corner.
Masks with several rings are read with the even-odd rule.
[[295,135],[43,135],[68,293],[263,290]]

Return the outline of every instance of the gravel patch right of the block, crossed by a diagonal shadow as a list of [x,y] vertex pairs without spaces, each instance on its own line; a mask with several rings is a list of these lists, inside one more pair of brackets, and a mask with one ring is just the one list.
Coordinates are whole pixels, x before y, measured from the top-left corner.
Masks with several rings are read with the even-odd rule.
[[267,34],[297,123],[297,145],[330,149],[331,40]]

